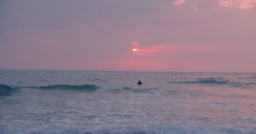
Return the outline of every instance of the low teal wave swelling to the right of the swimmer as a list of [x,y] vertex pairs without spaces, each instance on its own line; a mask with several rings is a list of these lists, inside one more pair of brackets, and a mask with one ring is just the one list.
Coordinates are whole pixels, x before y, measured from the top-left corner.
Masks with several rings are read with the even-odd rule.
[[242,83],[239,82],[230,82],[230,81],[221,81],[216,80],[216,78],[198,78],[196,81],[174,81],[168,83],[177,83],[177,84],[217,84],[217,85],[233,85],[233,86],[241,86]]

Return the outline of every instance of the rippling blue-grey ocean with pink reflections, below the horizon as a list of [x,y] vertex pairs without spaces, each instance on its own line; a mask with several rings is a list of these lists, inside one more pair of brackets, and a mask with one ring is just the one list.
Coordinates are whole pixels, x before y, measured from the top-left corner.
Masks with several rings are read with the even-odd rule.
[[256,134],[256,73],[0,70],[0,134]]

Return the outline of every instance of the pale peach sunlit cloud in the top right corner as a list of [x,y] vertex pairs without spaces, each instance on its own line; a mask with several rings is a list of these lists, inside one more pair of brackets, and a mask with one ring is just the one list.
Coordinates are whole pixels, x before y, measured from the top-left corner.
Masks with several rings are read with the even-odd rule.
[[219,0],[220,5],[225,7],[236,7],[240,9],[250,9],[256,6],[256,0]]

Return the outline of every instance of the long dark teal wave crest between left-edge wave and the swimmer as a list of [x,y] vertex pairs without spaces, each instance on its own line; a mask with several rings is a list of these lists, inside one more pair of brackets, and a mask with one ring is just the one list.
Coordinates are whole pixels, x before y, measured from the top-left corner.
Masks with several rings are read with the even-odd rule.
[[96,85],[48,85],[40,87],[27,87],[27,88],[37,88],[37,89],[69,89],[69,90],[96,90],[100,87]]

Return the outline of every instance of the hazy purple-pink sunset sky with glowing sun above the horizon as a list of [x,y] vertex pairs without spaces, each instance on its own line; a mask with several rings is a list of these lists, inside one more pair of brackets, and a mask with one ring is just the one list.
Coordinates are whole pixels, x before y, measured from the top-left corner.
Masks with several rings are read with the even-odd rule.
[[0,69],[256,72],[256,0],[0,0]]

